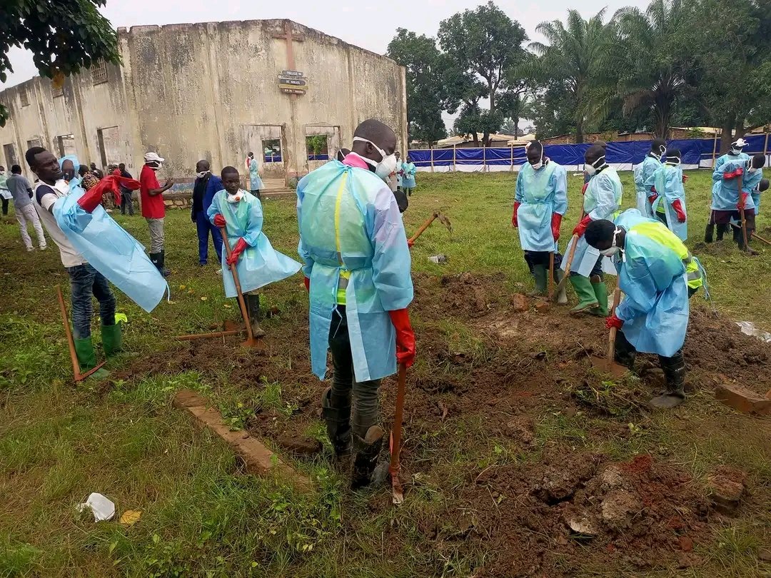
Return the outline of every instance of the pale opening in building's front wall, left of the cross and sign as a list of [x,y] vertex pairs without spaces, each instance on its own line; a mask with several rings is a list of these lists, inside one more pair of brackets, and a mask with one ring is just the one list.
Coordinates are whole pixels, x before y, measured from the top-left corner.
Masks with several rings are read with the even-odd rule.
[[241,163],[244,186],[249,190],[249,172],[246,167],[247,153],[254,153],[264,190],[282,190],[286,182],[286,139],[284,126],[265,124],[241,125]]

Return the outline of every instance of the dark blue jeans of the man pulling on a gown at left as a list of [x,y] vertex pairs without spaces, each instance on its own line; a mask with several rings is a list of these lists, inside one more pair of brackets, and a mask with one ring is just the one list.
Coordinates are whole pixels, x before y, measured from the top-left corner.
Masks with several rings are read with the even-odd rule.
[[99,317],[103,325],[115,324],[115,295],[103,274],[88,263],[67,267],[69,284],[72,287],[72,335],[76,339],[91,337],[93,302],[99,301]]

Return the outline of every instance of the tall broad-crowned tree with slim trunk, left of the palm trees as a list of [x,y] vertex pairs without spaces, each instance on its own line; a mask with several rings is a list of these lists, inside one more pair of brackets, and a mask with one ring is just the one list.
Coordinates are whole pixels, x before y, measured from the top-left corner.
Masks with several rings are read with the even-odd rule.
[[[462,116],[476,119],[487,144],[491,132],[500,128],[503,116],[497,110],[498,97],[504,88],[504,75],[522,59],[522,43],[527,35],[519,22],[513,21],[493,2],[465,10],[439,23],[439,45],[466,77],[466,87],[481,79],[490,99],[490,112],[476,113],[475,104],[464,103]],[[478,102],[477,99],[476,102]],[[500,119],[500,121],[499,121]],[[496,126],[496,122],[499,124]]]

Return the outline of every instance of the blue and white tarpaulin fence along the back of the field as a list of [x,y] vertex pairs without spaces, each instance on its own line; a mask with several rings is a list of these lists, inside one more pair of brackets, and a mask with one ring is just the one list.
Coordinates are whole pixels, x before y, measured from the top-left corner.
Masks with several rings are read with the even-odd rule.
[[[744,152],[749,155],[769,154],[769,136],[767,134],[745,136],[747,146]],[[544,154],[555,163],[568,169],[581,170],[584,166],[584,153],[591,143],[546,145]],[[670,140],[670,150],[679,149],[682,165],[686,169],[708,168],[712,166],[712,155],[719,156],[720,139],[685,139]],[[651,151],[650,140],[638,140],[628,143],[608,143],[606,160],[619,170],[631,170],[645,159]],[[409,156],[421,171],[460,171],[480,170],[505,171],[518,170],[525,158],[524,146],[506,148],[476,149],[417,149],[410,150]]]

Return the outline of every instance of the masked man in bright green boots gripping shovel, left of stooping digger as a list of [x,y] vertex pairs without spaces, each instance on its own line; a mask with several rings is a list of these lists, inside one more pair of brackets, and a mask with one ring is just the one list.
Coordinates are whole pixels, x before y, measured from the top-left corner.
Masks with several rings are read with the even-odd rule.
[[[588,313],[593,315],[608,314],[608,287],[603,273],[615,274],[610,260],[587,244],[584,231],[593,220],[613,219],[621,207],[624,193],[621,180],[614,168],[605,161],[605,150],[594,144],[584,153],[584,171],[591,179],[584,191],[584,217],[576,225],[573,234],[578,237],[573,262],[571,263],[571,284],[578,296],[578,304],[571,309],[571,314]],[[569,253],[573,241],[568,244]],[[567,265],[563,260],[562,268]]]

